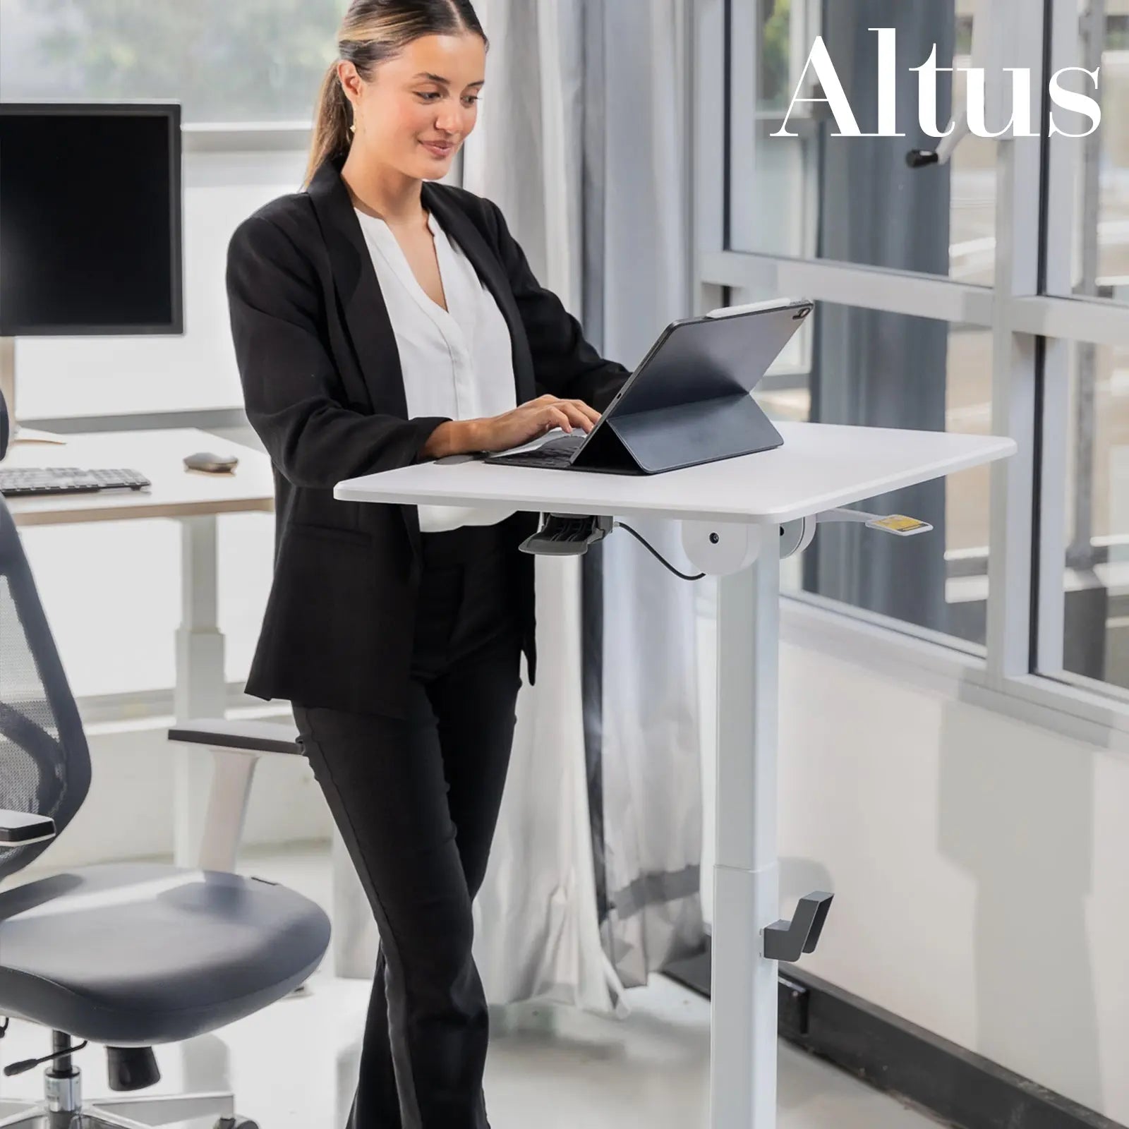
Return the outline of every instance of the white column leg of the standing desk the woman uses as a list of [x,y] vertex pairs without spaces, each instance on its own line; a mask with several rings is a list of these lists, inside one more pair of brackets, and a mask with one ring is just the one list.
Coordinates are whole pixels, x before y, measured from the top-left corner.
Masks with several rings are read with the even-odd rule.
[[717,856],[711,972],[711,1129],[771,1129],[777,1105],[779,917],[777,681],[780,546],[718,580]]

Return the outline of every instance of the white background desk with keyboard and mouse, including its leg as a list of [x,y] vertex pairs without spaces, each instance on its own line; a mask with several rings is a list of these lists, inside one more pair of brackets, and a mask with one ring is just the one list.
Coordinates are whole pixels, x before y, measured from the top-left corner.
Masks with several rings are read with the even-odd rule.
[[[262,452],[190,428],[152,431],[100,431],[64,436],[62,445],[15,443],[3,466],[128,467],[152,483],[146,491],[41,495],[9,498],[18,526],[73,525],[173,518],[181,526],[181,627],[176,632],[175,712],[222,717],[227,685],[224,636],[218,623],[218,514],[274,509],[271,461]],[[229,474],[185,469],[183,458],[200,450],[239,458]],[[81,583],[81,574],[76,574]],[[209,765],[191,751],[177,750],[175,856],[192,865],[207,803]]]

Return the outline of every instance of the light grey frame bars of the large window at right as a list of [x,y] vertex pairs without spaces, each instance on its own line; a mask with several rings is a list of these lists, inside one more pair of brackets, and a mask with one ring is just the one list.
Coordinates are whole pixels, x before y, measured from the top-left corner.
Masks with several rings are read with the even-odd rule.
[[[739,130],[732,130],[729,91],[734,73],[741,76],[743,89],[755,81],[750,77],[755,73],[753,61],[738,62],[735,54],[735,44],[747,44],[751,53],[756,43],[755,35],[736,37],[738,7],[733,0],[694,5],[693,312],[723,305],[727,288],[768,286],[816,301],[989,329],[991,430],[1010,436],[1019,446],[1016,457],[994,464],[991,471],[988,632],[982,655],[956,638],[942,639],[811,594],[784,597],[782,640],[939,689],[1075,739],[1129,752],[1129,695],[1112,683],[1067,681],[1070,676],[1062,674],[1069,349],[1074,341],[1129,341],[1129,306],[1062,296],[1069,290],[1078,215],[1073,165],[1077,146],[1061,137],[998,145],[996,275],[990,287],[910,271],[730,251],[729,174],[751,168],[752,159],[741,151]],[[1034,87],[1045,90],[1049,75],[1074,65],[1076,52],[1075,5],[1044,0],[1041,42],[1025,50]],[[717,65],[719,58],[724,67]],[[1021,187],[1030,184],[1039,184],[1039,192]],[[1048,216],[1054,217],[1053,225]]]

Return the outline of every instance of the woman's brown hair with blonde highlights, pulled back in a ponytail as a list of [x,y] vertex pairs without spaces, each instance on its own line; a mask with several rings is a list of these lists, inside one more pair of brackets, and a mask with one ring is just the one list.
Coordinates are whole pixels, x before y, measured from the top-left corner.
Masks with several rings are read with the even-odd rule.
[[338,78],[340,62],[351,62],[367,82],[377,63],[400,54],[413,40],[464,32],[481,36],[489,46],[471,0],[352,0],[338,30],[339,58],[317,96],[304,186],[324,160],[347,154],[352,140],[352,107]]

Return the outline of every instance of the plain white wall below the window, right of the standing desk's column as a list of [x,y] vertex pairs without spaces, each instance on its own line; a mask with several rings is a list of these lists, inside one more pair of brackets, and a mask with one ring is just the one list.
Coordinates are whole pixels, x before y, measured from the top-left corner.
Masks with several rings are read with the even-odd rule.
[[798,646],[780,679],[781,909],[835,893],[802,968],[1129,1123],[1129,758]]

